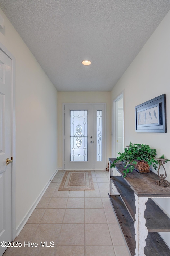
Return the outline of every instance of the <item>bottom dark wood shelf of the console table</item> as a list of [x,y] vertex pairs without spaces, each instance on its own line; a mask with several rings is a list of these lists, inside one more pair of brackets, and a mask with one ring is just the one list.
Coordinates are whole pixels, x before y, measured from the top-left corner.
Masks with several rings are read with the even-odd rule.
[[[135,255],[135,229],[134,222],[126,209],[121,197],[119,195],[109,195],[114,211],[117,215],[119,224],[124,234],[125,240],[128,244],[130,253],[132,256]],[[170,250],[164,243],[158,233],[148,233],[146,238],[146,246],[144,249],[146,256],[169,256]]]

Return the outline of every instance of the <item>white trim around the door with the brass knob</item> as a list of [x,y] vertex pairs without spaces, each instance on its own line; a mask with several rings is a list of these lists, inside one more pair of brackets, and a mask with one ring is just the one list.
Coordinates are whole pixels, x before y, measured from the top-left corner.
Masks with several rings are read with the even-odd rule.
[[7,48],[0,43],[0,49],[11,59],[11,154],[13,156],[13,163],[11,165],[12,168],[12,241],[16,237],[16,126],[15,126],[15,57],[7,50]]

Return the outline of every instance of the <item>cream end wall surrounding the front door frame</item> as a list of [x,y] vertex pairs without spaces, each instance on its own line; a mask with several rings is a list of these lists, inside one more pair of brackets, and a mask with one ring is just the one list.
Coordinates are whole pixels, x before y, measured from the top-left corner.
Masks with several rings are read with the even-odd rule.
[[[58,166],[62,167],[62,103],[106,103],[106,157],[111,155],[111,93],[110,92],[58,92]],[[107,167],[107,166],[106,166]]]

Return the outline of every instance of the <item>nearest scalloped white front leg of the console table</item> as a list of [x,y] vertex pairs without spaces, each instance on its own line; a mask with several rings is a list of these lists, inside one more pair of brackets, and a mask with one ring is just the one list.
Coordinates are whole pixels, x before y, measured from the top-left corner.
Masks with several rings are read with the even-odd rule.
[[138,197],[135,194],[135,240],[136,240],[136,249],[135,256],[146,256],[144,253],[144,248],[146,246],[145,239],[148,235],[147,227],[145,226],[146,220],[144,217],[144,212],[146,209],[145,203],[147,202],[147,197]]

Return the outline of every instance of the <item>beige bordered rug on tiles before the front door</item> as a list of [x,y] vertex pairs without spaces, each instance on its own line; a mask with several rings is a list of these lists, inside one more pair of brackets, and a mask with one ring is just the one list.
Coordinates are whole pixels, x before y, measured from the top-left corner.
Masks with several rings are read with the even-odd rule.
[[58,190],[95,190],[91,171],[66,171]]

